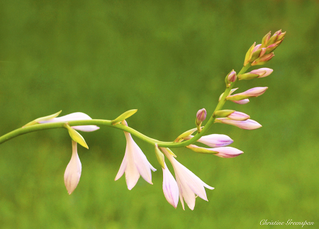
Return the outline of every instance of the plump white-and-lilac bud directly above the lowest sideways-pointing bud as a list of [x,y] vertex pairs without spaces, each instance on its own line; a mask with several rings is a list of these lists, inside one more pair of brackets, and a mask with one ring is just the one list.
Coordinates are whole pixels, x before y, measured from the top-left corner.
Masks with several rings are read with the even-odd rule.
[[[193,135],[189,135],[185,140],[189,140],[193,138]],[[233,139],[228,137],[228,135],[219,135],[219,134],[211,134],[211,135],[205,135],[201,138],[199,138],[198,143],[203,143],[205,145],[208,145],[209,147],[222,147],[226,145],[230,145],[234,142]]]

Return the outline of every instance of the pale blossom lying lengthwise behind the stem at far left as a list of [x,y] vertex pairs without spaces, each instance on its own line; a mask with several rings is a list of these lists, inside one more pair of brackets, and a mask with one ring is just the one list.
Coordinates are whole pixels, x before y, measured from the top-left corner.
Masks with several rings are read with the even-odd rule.
[[[91,119],[92,118],[88,116],[86,113],[75,112],[75,113],[69,113],[66,116],[52,118],[47,121],[41,121],[40,123],[57,123],[57,122],[69,122],[69,121],[78,121],[78,120],[91,120]],[[76,125],[76,126],[72,126],[72,128],[74,130],[81,130],[85,132],[99,130],[99,126],[96,126],[96,125]]]

